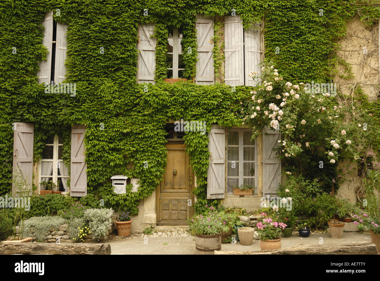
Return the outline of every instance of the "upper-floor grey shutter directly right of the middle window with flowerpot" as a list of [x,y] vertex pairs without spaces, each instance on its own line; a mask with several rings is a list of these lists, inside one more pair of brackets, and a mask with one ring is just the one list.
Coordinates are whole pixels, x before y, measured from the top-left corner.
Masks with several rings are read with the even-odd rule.
[[198,61],[195,64],[195,83],[201,85],[214,84],[214,19],[211,16],[196,16],[196,42],[198,44]]

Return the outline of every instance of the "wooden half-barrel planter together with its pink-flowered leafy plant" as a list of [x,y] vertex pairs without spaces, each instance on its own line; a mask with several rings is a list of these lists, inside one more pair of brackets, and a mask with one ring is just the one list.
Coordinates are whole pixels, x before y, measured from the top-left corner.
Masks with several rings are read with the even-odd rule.
[[222,249],[222,230],[228,231],[227,222],[210,206],[204,216],[193,216],[187,220],[190,233],[195,234],[196,254],[214,255],[214,251]]

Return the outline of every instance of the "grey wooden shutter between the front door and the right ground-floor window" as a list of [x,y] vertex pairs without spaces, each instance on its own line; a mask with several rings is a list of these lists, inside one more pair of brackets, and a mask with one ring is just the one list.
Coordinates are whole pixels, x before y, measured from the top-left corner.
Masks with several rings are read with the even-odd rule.
[[209,169],[207,170],[207,199],[224,198],[226,132],[224,127],[211,125],[209,133]]

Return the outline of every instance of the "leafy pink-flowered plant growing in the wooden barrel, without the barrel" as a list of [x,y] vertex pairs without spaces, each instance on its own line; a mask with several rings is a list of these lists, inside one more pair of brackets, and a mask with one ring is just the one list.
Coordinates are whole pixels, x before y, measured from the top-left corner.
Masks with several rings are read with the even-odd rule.
[[199,214],[187,219],[190,233],[198,235],[215,235],[230,229],[228,221],[214,207],[209,207],[209,212],[204,215]]

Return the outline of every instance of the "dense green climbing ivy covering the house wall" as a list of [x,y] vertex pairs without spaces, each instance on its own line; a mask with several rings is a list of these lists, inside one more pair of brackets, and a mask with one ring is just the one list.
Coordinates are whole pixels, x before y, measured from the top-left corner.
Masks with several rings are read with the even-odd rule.
[[[196,14],[220,17],[234,9],[241,14],[244,27],[261,22],[264,17],[265,55],[272,58],[285,79],[329,81],[334,49],[339,47],[336,38],[345,34],[345,22],[356,15],[367,24],[380,18],[371,3],[367,0],[2,1],[0,194],[8,193],[11,187],[14,122],[35,125],[35,161],[41,158],[48,137],[63,135],[66,164],[70,163],[70,128],[82,124],[88,127],[85,139],[88,192],[103,198],[108,207],[122,206],[136,214],[139,201],[152,194],[165,171],[165,123],[180,118],[206,121],[207,131],[212,123],[239,125],[239,101],[247,99],[252,90],[242,86],[232,92],[223,84],[163,83],[167,73],[168,27],[183,27],[186,77],[195,75]],[[319,15],[319,9],[323,9],[323,16]],[[46,58],[41,21],[49,10],[54,11],[56,21],[68,24],[66,82],[76,83],[74,97],[44,93],[44,85],[38,85],[36,80],[38,62]],[[148,85],[147,91],[144,84],[136,84],[139,22],[156,24],[156,85]],[[215,28],[218,26],[215,24]],[[101,47],[104,53],[100,53]],[[215,60],[217,66],[221,58]],[[208,202],[208,137],[189,132],[184,139],[197,176],[194,193],[198,208]],[[109,179],[113,174],[140,178],[139,191],[130,193],[129,185],[128,195],[114,194]]]

